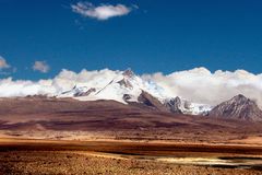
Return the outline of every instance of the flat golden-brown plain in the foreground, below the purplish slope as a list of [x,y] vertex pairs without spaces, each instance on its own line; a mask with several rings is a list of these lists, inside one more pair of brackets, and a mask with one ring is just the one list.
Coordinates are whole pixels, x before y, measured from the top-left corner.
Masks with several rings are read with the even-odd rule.
[[1,174],[255,175],[260,155],[258,145],[0,139]]

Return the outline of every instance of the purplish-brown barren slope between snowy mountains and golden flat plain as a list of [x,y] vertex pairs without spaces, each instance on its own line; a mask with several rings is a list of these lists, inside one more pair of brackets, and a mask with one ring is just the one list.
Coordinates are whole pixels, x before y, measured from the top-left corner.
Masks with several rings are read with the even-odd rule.
[[[146,95],[144,98],[155,104],[154,98]],[[224,142],[260,137],[261,126],[261,122],[172,114],[154,105],[124,105],[115,101],[81,102],[39,96],[0,101],[0,131],[15,131],[15,135],[26,131],[32,137],[37,131],[40,136],[69,131],[74,139],[99,132],[104,138]]]

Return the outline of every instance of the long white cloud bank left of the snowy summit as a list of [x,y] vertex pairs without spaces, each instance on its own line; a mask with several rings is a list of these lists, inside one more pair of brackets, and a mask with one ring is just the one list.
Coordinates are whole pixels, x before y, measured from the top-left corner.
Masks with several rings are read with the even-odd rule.
[[87,71],[82,70],[75,73],[70,70],[62,70],[50,80],[16,80],[12,78],[0,80],[0,97],[26,96],[26,95],[56,95],[71,90],[75,84],[79,86],[105,86],[116,78],[119,71],[108,69]]

